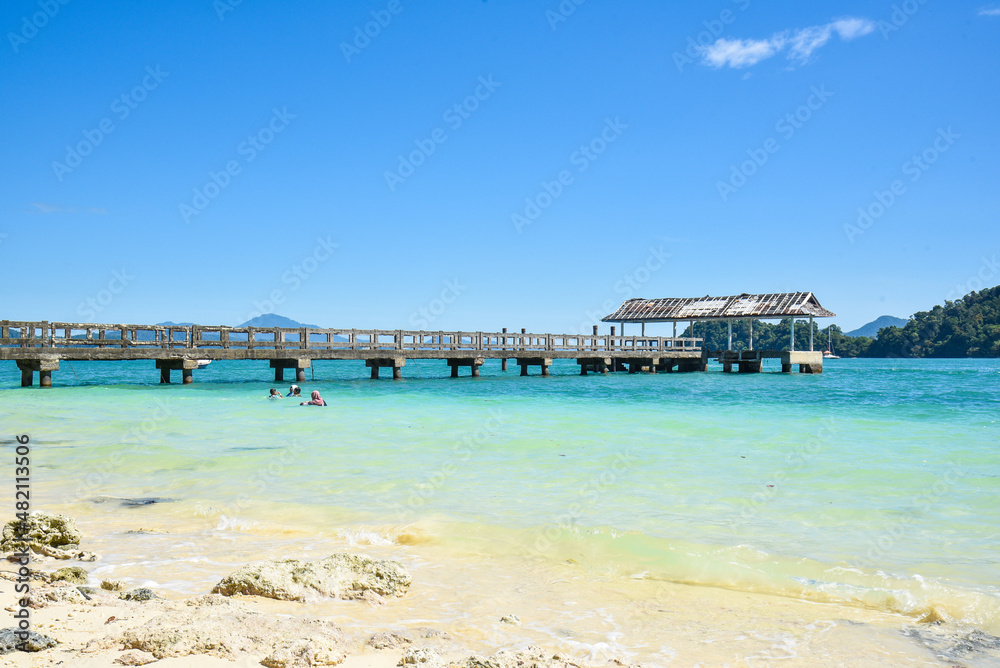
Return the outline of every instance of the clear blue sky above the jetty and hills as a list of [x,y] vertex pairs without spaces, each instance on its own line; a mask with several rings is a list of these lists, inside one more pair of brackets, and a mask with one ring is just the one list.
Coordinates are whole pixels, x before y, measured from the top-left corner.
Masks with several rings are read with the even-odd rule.
[[1000,4],[681,5],[6,2],[0,318],[850,329],[1000,283]]

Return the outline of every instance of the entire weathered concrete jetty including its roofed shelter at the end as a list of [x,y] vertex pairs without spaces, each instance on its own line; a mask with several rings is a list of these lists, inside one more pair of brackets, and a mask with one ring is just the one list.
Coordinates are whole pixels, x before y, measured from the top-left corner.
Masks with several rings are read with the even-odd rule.
[[[529,375],[529,369],[534,367],[542,376],[548,376],[553,361],[558,359],[575,360],[584,376],[589,372],[707,371],[710,359],[722,363],[724,371],[732,371],[736,365],[740,372],[754,373],[761,371],[767,358],[781,359],[785,372],[797,364],[800,372],[822,373],[823,356],[811,350],[811,338],[810,351],[794,350],[794,317],[804,315],[811,321],[833,313],[820,307],[812,293],[789,294],[799,296],[778,300],[773,295],[763,296],[768,299],[741,295],[687,301],[629,300],[604,318],[619,323],[611,326],[610,332],[599,333],[595,325],[589,334],[537,334],[526,329],[508,332],[506,328],[500,332],[428,332],[3,320],[0,360],[17,363],[22,387],[34,385],[36,373],[39,385],[50,387],[52,373],[59,370],[62,360],[151,360],[161,383],[170,383],[173,371],[181,372],[183,383],[192,383],[200,366],[217,360],[266,361],[277,382],[284,381],[286,370],[294,372],[296,380],[304,381],[305,370],[316,360],[363,361],[372,379],[379,378],[382,369],[391,370],[392,378],[402,378],[407,360],[425,359],[446,362],[452,378],[457,378],[463,367],[468,367],[472,376],[479,376],[486,360],[500,360],[504,371],[508,361],[513,361],[522,376]],[[754,306],[748,305],[748,297],[758,298]],[[707,308],[702,303],[706,300],[714,306]],[[702,345],[704,339],[676,335],[676,323],[683,320],[693,323],[762,316],[793,318],[789,350],[753,350],[751,340],[750,350],[710,351]],[[646,336],[647,322],[674,322],[674,336]],[[641,323],[642,331],[628,336],[626,323]]]

